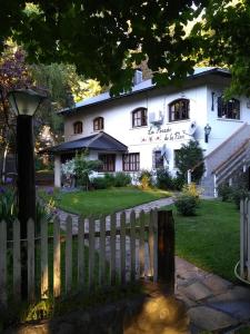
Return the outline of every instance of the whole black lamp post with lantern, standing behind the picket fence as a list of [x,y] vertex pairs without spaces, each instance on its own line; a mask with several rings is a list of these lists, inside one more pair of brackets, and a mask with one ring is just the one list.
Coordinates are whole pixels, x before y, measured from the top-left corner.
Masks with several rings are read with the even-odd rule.
[[[17,157],[18,157],[18,218],[21,238],[27,239],[27,222],[36,222],[36,183],[33,155],[32,116],[44,100],[44,96],[31,89],[16,89],[8,94],[9,104],[17,116]],[[21,295],[27,298],[27,247],[21,248]]]

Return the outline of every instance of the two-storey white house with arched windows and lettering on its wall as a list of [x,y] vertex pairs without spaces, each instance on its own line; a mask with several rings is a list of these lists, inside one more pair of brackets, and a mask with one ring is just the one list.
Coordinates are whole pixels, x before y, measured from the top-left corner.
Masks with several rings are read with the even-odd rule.
[[[181,88],[159,88],[142,81],[137,71],[130,92],[109,92],[64,109],[64,143],[53,147],[56,186],[60,164],[76,149],[88,148],[90,158],[103,161],[103,171],[138,173],[168,166],[174,175],[174,154],[191,138],[206,156],[206,193],[217,194],[222,180],[236,170],[249,173],[250,101],[233,97],[224,102],[230,73],[220,68],[198,68]],[[206,131],[208,134],[206,135]]]

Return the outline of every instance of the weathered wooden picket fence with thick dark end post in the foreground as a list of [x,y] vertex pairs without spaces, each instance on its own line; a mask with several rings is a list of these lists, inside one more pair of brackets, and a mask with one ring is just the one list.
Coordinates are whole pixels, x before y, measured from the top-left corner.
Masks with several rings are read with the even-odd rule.
[[63,224],[57,217],[42,222],[39,233],[29,219],[27,230],[27,239],[21,239],[16,220],[8,240],[8,226],[0,223],[0,304],[8,305],[11,296],[21,299],[23,249],[29,302],[138,278],[174,284],[171,212],[132,210],[98,220],[79,218],[77,225],[71,216]]

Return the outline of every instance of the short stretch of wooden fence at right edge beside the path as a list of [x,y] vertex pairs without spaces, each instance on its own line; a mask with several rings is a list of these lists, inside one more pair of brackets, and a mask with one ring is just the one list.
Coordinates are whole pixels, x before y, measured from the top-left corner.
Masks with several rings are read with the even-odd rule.
[[250,199],[240,203],[240,276],[250,282]]

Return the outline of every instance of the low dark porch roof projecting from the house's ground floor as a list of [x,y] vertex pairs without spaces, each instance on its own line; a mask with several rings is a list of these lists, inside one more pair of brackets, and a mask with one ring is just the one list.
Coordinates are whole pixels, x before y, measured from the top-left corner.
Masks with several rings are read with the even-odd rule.
[[128,147],[120,143],[119,140],[114,139],[110,135],[106,132],[99,132],[97,135],[92,135],[89,137],[83,137],[72,141],[66,141],[58,146],[53,146],[47,149],[43,149],[40,153],[70,153],[74,150],[81,149],[91,149],[91,150],[103,150],[103,151],[119,151],[126,153]]

